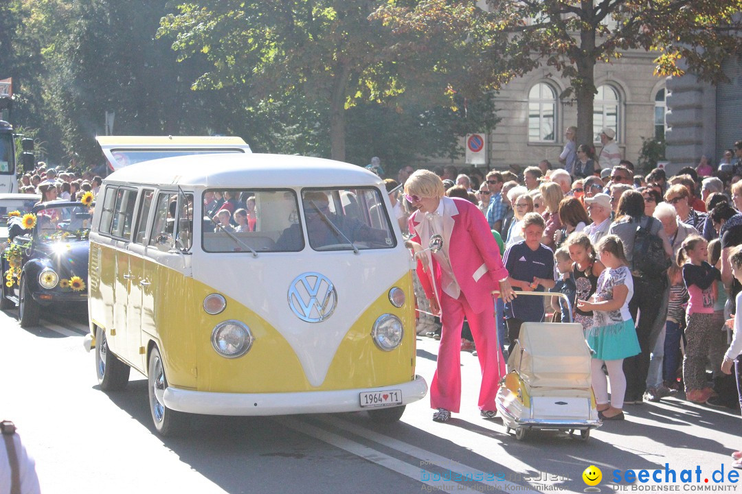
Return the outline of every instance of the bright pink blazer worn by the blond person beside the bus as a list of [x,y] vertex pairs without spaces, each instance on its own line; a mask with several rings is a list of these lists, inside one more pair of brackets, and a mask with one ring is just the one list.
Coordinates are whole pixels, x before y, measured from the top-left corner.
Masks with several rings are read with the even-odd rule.
[[[499,247],[492,235],[490,225],[482,211],[470,201],[460,198],[442,197],[443,238],[449,246],[448,252],[453,275],[471,308],[482,312],[491,300],[492,290],[499,289],[499,280],[508,277],[508,270],[502,265]],[[422,221],[425,214],[419,210],[410,216],[410,232],[413,241],[427,247],[428,239],[421,241]],[[418,261],[417,273],[425,296],[436,296],[440,305],[441,270],[435,256],[428,250],[431,270],[425,273]]]

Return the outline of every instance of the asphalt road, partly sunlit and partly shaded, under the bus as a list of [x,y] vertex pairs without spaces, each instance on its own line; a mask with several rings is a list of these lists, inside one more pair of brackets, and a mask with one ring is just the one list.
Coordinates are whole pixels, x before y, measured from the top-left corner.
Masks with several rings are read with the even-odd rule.
[[[84,316],[54,316],[30,330],[14,316],[0,313],[0,418],[16,421],[43,493],[582,493],[591,464],[602,470],[604,493],[654,489],[611,483],[613,472],[623,478],[665,464],[676,483],[661,487],[742,490],[728,478],[729,453],[742,448],[738,416],[668,399],[626,407],[626,421],[605,424],[586,442],[554,432],[516,441],[499,419],[479,417],[479,364],[469,353],[462,413],[447,424],[430,420],[425,399],[386,427],[364,413],[194,415],[188,433],[162,439],[141,375],[119,393],[98,389],[93,354],[82,347]],[[436,352],[437,341],[418,338],[418,373],[428,382]],[[725,482],[717,484],[712,474],[721,467]],[[692,482],[680,483],[682,470],[692,470]]]

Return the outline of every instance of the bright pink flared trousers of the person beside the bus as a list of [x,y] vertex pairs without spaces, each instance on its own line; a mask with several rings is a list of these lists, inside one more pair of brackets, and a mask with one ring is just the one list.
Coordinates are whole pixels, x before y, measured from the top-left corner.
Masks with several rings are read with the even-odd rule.
[[505,359],[497,343],[495,306],[492,299],[485,310],[474,313],[462,293],[452,298],[441,293],[441,344],[438,366],[430,384],[430,406],[458,413],[462,395],[461,341],[464,316],[469,321],[476,344],[479,367],[482,368],[482,386],[479,388],[479,409],[496,410],[495,396],[498,382],[505,375]]

